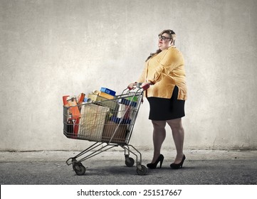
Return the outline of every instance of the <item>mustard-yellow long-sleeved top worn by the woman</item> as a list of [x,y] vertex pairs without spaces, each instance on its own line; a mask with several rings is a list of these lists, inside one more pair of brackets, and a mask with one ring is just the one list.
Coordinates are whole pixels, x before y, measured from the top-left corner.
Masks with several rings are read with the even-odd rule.
[[187,84],[185,80],[184,58],[182,53],[172,45],[147,60],[142,75],[137,82],[152,82],[152,86],[145,91],[145,97],[172,97],[177,85],[179,94],[177,99],[187,99]]

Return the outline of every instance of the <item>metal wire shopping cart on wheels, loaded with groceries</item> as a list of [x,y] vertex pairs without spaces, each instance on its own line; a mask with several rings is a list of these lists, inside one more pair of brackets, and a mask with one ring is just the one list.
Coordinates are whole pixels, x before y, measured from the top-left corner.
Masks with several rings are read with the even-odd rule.
[[[85,174],[82,161],[103,153],[115,146],[121,146],[125,151],[125,164],[132,167],[137,164],[137,173],[145,175],[147,168],[142,165],[142,155],[130,143],[132,130],[137,119],[137,113],[142,103],[144,89],[125,89],[122,95],[114,99],[95,100],[77,106],[63,106],[63,134],[70,139],[93,141],[94,144],[74,157],[68,158],[66,163],[73,165],[77,175]],[[78,108],[79,117],[70,114],[70,109]],[[72,120],[72,121],[70,121]]]

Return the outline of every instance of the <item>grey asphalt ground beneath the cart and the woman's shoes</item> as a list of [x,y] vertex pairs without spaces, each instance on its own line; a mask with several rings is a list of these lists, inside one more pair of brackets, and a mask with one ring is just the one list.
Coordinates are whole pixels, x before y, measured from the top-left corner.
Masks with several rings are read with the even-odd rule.
[[[125,166],[123,151],[106,151],[83,161],[83,176],[65,161],[79,151],[0,152],[1,185],[256,185],[257,151],[185,151],[184,166],[172,170],[174,152],[163,151],[162,168],[137,174],[136,166]],[[151,151],[141,151],[142,164]],[[170,156],[170,158],[167,158]],[[133,157],[133,156],[131,156]]]

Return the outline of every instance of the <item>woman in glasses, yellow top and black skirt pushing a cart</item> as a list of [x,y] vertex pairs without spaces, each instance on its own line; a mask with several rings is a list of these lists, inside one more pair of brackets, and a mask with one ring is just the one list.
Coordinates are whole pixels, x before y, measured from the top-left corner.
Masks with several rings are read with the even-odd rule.
[[[182,168],[185,156],[183,153],[184,103],[187,99],[187,85],[185,81],[184,58],[175,47],[176,35],[172,30],[159,33],[159,43],[156,53],[151,53],[145,62],[145,69],[137,82],[145,90],[145,97],[150,103],[149,119],[153,125],[154,154],[148,168],[162,168],[164,156],[161,154],[162,143],[166,136],[165,125],[172,129],[172,136],[177,150],[177,156],[170,165],[171,168]],[[128,87],[134,87],[137,82]],[[151,85],[151,86],[150,86]]]

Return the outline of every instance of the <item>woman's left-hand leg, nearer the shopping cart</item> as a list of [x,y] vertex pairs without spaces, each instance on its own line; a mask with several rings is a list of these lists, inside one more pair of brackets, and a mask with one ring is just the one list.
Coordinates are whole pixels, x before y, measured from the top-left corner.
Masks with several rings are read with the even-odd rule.
[[152,158],[152,163],[154,163],[155,161],[157,161],[157,158],[161,154],[162,143],[166,137],[166,121],[152,120],[152,125],[154,127],[154,131],[152,134],[152,141],[154,144],[154,156]]

